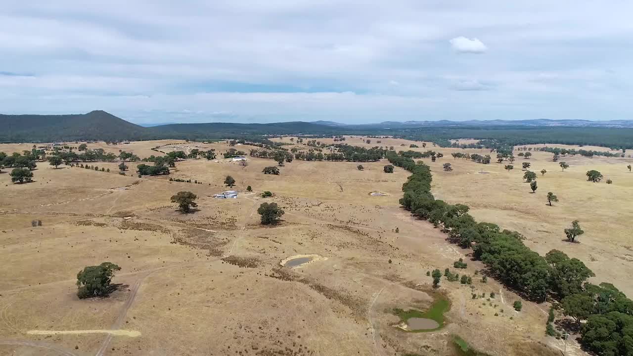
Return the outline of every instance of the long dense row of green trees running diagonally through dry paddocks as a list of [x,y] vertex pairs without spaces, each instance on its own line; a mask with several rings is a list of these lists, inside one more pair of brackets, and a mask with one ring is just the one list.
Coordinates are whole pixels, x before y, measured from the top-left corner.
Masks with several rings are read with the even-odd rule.
[[[495,276],[521,295],[536,302],[549,296],[560,306],[563,314],[578,322],[580,344],[596,355],[633,355],[633,301],[609,283],[587,282],[594,273],[577,258],[569,258],[563,251],[551,250],[545,257],[530,250],[516,231],[501,230],[496,224],[476,222],[468,214],[466,205],[451,205],[436,200],[430,193],[432,174],[423,162],[387,151],[392,165],[402,167],[411,175],[403,184],[400,203],[413,215],[429,220],[448,234],[448,240],[462,248],[472,248],[473,258],[486,264]],[[555,201],[553,194],[548,200]],[[574,220],[565,229],[568,241],[582,234]],[[441,273],[434,271],[434,286]],[[555,334],[548,319],[546,332]],[[586,321],[581,324],[581,321]]]

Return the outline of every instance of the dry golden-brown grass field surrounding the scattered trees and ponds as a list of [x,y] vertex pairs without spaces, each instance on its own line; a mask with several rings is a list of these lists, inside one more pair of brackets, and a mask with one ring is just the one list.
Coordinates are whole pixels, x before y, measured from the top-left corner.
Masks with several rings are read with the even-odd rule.
[[[375,140],[345,142],[373,147]],[[380,141],[396,150],[413,143]],[[166,143],[133,142],[125,150],[144,157]],[[436,149],[415,144],[419,151]],[[229,149],[225,143],[179,145]],[[632,293],[624,278],[630,268],[620,259],[628,253],[626,219],[633,208],[627,159],[564,158],[571,167],[562,173],[551,154],[534,153],[531,168],[542,165],[548,173],[539,174],[539,189],[530,194],[519,168],[508,173],[497,163],[453,160],[453,149],[436,150],[445,156],[425,162],[438,198],[466,203],[477,219],[517,229],[541,253],[559,248],[582,258],[597,279]],[[441,171],[445,162],[453,172]],[[0,174],[0,355],[451,355],[453,334],[499,356],[556,355],[541,343],[561,347],[543,336],[548,305],[523,302],[515,312],[518,296],[492,279],[482,283],[475,276],[482,265],[467,258],[469,251],[399,207],[409,174],[399,168],[385,174],[385,160],[363,163],[364,171],[353,162],[295,160],[280,167],[280,175],[263,175],[263,167],[275,165],[263,158],[250,158],[246,167],[185,160],[169,176],[149,178],[118,175],[115,162],[94,164],[113,172],[41,162],[35,181],[19,185]],[[613,184],[584,181],[590,166]],[[226,175],[235,178],[239,198],[212,198],[227,189]],[[183,215],[170,203],[182,190],[197,194],[197,212]],[[555,207],[544,205],[548,190],[561,200]],[[261,191],[275,195],[260,198]],[[371,196],[374,191],[389,195]],[[259,224],[263,201],[285,210],[281,224]],[[573,219],[586,233],[572,245],[561,239]],[[32,220],[42,226],[32,227]],[[296,255],[323,258],[294,269],[280,265]],[[427,271],[453,270],[458,258],[468,262],[459,273],[473,277],[473,289],[442,279],[440,294],[432,293]],[[104,261],[122,267],[113,280],[117,290],[79,300],[77,272]],[[491,292],[496,298],[490,302],[471,298]],[[444,328],[408,333],[396,327],[394,308],[426,310],[440,295],[451,303]]]

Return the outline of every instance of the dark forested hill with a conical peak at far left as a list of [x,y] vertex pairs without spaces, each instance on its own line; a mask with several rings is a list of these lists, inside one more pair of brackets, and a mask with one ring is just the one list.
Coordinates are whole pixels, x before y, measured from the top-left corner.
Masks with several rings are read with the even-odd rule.
[[141,139],[144,128],[106,111],[76,115],[0,115],[0,141]]

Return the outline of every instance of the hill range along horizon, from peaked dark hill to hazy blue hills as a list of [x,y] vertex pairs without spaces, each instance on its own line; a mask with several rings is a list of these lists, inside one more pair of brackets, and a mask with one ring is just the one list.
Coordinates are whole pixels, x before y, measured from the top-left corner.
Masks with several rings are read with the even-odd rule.
[[[145,127],[144,127],[145,126]],[[429,128],[492,127],[633,127],[633,120],[468,120],[440,121],[385,121],[379,124],[340,124],[332,121],[277,122],[273,124],[159,124],[135,125],[106,111],[96,110],[76,115],[0,115],[2,142],[56,141],[135,141],[145,139],[212,139],[272,134],[402,134],[424,132]]]

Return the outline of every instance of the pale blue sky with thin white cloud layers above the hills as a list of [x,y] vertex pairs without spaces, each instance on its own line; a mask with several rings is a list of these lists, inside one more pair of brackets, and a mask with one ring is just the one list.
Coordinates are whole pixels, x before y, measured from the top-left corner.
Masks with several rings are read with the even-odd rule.
[[631,119],[632,13],[627,0],[4,0],[0,113]]

